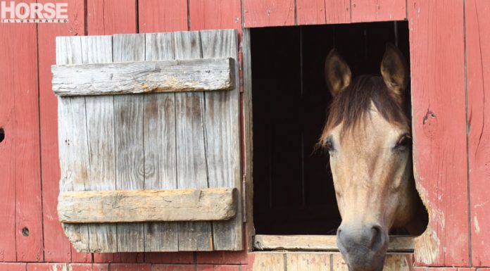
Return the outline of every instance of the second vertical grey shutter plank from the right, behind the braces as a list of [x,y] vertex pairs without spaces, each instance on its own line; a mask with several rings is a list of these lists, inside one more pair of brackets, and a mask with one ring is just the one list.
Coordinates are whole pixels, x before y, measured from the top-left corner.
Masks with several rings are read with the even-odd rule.
[[[175,58],[202,58],[199,32],[175,33]],[[175,94],[177,187],[208,187],[203,93]],[[179,251],[212,251],[211,222],[179,222]]]

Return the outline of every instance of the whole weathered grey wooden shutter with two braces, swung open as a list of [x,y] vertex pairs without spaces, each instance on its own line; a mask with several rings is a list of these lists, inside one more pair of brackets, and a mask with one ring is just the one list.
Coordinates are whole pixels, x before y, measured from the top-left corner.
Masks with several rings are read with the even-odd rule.
[[56,63],[75,248],[241,250],[237,32],[58,37]]

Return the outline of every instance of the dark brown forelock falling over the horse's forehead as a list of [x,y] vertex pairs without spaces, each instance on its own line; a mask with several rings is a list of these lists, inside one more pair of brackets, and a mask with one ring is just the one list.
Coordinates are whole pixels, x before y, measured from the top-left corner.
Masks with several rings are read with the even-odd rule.
[[344,133],[369,115],[371,102],[388,122],[408,125],[405,111],[392,95],[381,76],[360,75],[356,77],[329,106],[327,122],[319,144],[325,144],[329,131],[340,123],[343,124],[341,133]]

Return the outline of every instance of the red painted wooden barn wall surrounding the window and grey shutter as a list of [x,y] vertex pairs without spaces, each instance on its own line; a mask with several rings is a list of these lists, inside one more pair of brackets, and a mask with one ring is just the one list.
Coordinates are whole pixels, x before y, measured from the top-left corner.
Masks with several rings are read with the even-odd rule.
[[253,260],[246,251],[72,248],[56,213],[60,172],[50,70],[56,36],[377,20],[409,20],[415,171],[431,217],[427,234],[417,240],[425,249],[415,252],[416,269],[490,266],[489,1],[63,1],[70,23],[0,23],[0,127],[6,133],[0,143],[0,270],[69,264],[72,270],[232,271],[246,270]]

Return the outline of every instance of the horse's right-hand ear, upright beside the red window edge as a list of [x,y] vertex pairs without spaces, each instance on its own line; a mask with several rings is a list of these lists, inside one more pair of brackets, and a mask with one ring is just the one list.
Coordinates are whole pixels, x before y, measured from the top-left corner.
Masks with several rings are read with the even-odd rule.
[[381,61],[381,75],[388,89],[395,94],[398,101],[403,97],[403,91],[408,83],[407,63],[403,54],[393,44],[387,44]]

